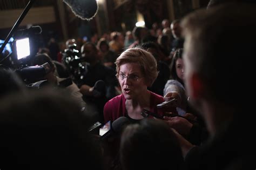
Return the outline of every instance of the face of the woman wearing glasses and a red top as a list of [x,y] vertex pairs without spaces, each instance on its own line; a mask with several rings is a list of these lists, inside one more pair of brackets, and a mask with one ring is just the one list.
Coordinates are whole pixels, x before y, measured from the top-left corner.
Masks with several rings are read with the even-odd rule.
[[120,66],[118,80],[125,99],[135,99],[147,89],[145,78],[137,63],[125,63]]

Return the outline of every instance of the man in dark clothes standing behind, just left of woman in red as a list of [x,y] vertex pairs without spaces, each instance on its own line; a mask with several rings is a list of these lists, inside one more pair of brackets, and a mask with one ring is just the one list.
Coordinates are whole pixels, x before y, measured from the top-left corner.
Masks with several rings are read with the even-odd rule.
[[85,69],[80,92],[84,95],[86,103],[96,104],[99,113],[102,113],[103,121],[103,107],[106,101],[116,96],[115,72],[99,62],[99,51],[95,44],[84,44],[81,53]]

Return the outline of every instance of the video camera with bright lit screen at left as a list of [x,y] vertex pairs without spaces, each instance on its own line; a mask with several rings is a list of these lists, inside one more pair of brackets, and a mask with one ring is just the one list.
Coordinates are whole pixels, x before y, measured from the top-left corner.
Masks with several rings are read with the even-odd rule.
[[37,35],[41,34],[41,32],[40,26],[31,26],[29,29],[15,31],[12,35],[14,40],[10,43],[12,52],[5,58],[2,57],[3,59],[0,61],[3,66],[15,70],[26,85],[43,80],[45,74],[50,71],[48,63],[41,66],[29,66],[31,59],[37,53]]

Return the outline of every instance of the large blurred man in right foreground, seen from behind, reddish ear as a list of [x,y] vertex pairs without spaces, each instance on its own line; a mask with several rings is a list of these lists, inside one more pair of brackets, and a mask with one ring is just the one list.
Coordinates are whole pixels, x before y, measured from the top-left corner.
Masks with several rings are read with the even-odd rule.
[[[254,86],[238,83],[239,77],[252,78],[255,9],[228,3],[193,12],[181,24],[186,90],[211,136],[203,147],[194,147],[178,135],[188,169],[255,168],[255,138],[250,132],[255,124],[246,116],[254,107],[241,91]],[[243,35],[235,36],[237,30]]]

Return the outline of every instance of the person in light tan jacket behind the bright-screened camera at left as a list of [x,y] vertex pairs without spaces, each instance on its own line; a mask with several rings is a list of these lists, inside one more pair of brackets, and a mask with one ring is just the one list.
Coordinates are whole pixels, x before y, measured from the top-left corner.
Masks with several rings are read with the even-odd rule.
[[48,83],[53,86],[64,87],[66,90],[70,91],[73,99],[79,103],[81,107],[85,106],[85,102],[82,99],[82,93],[79,92],[79,89],[75,83],[71,79],[59,78],[56,76],[56,66],[53,64],[51,58],[44,54],[39,54],[35,56],[32,61],[32,65],[42,65],[44,63],[49,63],[50,72],[45,75],[45,79],[48,80]]

